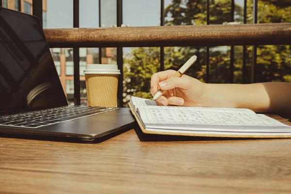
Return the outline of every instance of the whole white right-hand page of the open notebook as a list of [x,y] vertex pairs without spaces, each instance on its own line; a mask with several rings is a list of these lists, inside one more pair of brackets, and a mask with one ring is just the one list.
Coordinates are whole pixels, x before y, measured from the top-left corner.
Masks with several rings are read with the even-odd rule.
[[287,125],[263,114],[196,111],[192,108],[189,107],[188,110],[171,110],[138,107],[137,113],[146,129],[189,130],[199,128],[203,130],[226,129],[226,131],[236,130],[238,128],[240,130],[257,129],[261,131],[267,129],[266,127],[271,127],[268,128],[271,130],[290,129]]

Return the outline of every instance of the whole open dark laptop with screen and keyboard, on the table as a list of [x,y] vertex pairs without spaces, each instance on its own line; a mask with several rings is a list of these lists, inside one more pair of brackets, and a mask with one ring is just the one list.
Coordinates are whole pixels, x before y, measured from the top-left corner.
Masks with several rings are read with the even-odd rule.
[[68,105],[39,19],[0,7],[0,135],[91,141],[134,123],[128,108]]

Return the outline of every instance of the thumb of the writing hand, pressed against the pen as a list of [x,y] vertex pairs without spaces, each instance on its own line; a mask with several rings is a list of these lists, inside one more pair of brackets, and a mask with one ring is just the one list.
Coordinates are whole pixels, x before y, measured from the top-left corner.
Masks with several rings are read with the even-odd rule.
[[172,77],[165,81],[161,81],[159,86],[162,90],[171,90],[173,88],[181,88],[184,90],[190,89],[191,77],[183,75],[182,77]]

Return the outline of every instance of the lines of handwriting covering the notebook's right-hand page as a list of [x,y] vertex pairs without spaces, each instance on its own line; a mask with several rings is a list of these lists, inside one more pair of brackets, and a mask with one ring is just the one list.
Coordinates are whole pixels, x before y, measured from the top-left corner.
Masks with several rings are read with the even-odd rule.
[[226,113],[194,111],[191,109],[138,109],[144,123],[151,126],[171,126],[184,124],[235,125],[235,126],[280,126],[274,119],[250,113]]

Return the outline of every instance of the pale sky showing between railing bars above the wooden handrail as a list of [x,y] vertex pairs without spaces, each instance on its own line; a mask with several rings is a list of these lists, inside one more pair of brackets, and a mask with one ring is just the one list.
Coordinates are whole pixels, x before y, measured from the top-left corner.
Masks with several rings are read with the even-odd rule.
[[[172,0],[164,0],[165,7]],[[47,0],[47,28],[73,28],[73,0]],[[235,0],[243,7],[243,0]],[[113,7],[113,9],[110,9]],[[160,0],[123,0],[123,24],[159,26]],[[80,0],[80,27],[99,27],[98,0]],[[116,0],[101,0],[101,24],[116,25]]]

